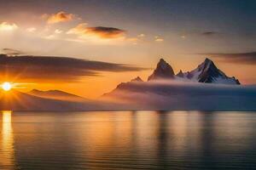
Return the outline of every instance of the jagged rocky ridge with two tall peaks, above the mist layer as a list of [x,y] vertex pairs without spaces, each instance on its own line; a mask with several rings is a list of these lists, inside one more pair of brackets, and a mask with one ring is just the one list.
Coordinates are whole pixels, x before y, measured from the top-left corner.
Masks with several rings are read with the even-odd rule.
[[[153,73],[148,77],[148,82],[159,80],[240,85],[240,82],[236,79],[236,77],[226,76],[223,71],[220,71],[217,68],[211,59],[207,58],[193,71],[187,71],[183,73],[183,71],[180,70],[176,75],[174,74],[172,66],[169,65],[164,59],[160,59]],[[108,94],[113,94],[113,92],[118,90],[138,90],[142,92],[144,90],[142,87],[140,87],[140,89],[133,88],[133,84],[136,82],[143,82],[143,79],[141,77],[136,77],[130,82],[121,82],[115,89],[113,89],[112,92],[103,94],[103,96],[108,96]],[[146,85],[147,82],[144,84]]]

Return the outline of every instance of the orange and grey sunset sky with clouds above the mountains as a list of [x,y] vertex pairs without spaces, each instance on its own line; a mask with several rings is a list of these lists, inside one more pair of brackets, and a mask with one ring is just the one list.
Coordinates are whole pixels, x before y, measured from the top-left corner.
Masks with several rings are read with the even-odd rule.
[[0,0],[0,53],[13,56],[0,55],[0,80],[91,99],[160,58],[177,73],[208,57],[255,84],[255,30],[254,0]]

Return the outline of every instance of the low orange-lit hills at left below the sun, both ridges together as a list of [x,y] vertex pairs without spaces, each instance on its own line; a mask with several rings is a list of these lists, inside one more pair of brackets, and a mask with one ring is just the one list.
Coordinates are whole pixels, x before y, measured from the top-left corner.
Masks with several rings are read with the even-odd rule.
[[0,101],[0,111],[102,111],[112,106],[108,102],[84,99],[59,90],[34,89],[28,93],[0,90]]

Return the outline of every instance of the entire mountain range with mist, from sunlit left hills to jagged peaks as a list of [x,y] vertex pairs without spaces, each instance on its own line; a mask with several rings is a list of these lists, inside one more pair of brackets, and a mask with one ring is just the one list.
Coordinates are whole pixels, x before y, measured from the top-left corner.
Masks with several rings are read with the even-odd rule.
[[189,110],[256,111],[256,87],[240,85],[210,59],[193,71],[174,73],[160,59],[148,81],[136,77],[121,82],[99,99],[84,99],[61,90],[33,89],[21,93],[0,90],[0,110],[11,111],[109,111],[109,110]]

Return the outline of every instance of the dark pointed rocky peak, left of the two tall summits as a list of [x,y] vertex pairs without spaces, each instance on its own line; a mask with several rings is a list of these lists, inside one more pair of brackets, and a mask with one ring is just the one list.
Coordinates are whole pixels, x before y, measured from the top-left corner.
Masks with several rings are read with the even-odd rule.
[[152,75],[148,77],[148,81],[160,80],[160,79],[173,79],[174,71],[172,66],[166,63],[164,59],[160,59]]

